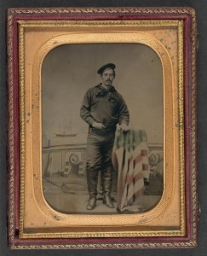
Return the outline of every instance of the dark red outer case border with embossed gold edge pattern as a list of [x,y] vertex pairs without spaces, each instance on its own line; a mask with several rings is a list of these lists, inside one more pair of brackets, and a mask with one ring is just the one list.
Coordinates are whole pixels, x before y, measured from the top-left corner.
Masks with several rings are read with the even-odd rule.
[[[180,236],[158,236],[142,234],[135,236],[113,236],[104,240],[94,238],[68,238],[66,236],[22,236],[22,210],[20,198],[24,197],[22,168],[24,169],[24,63],[20,59],[20,22],[37,20],[180,20],[183,23],[184,38],[181,58],[180,109],[180,150],[183,159],[182,186],[185,186],[181,201],[185,204],[185,222]],[[36,20],[36,21],[34,21]],[[106,21],[107,22],[107,21]],[[141,21],[140,21],[141,22]],[[153,21],[152,21],[153,22]],[[57,24],[57,23],[56,23]],[[196,22],[193,9],[9,9],[8,15],[8,81],[9,81],[9,246],[11,248],[118,248],[118,247],[193,247],[197,234],[197,194],[196,194]],[[188,37],[188,36],[191,37]],[[20,97],[19,97],[20,96]],[[183,105],[184,103],[184,105]],[[182,163],[182,162],[181,162]],[[24,173],[23,173],[24,175]],[[20,189],[20,193],[19,193]],[[69,236],[77,237],[77,236]],[[110,236],[109,236],[110,237]],[[23,239],[24,238],[24,239]],[[121,241],[121,243],[120,243]]]

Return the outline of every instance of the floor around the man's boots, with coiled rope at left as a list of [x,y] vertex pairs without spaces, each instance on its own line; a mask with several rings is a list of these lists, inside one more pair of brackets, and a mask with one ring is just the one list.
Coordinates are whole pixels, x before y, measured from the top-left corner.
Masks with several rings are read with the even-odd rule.
[[[112,197],[115,208],[106,207],[101,195],[98,195],[97,205],[94,210],[86,210],[89,199],[86,177],[78,177],[77,173],[70,173],[63,177],[54,173],[52,177],[43,177],[43,194],[50,207],[58,212],[83,213],[83,214],[118,214],[116,210],[116,176],[113,178]],[[152,175],[150,183],[146,186],[145,194],[139,199],[139,207],[146,212],[158,204],[163,192],[162,177]],[[135,210],[135,211],[134,211]],[[136,212],[134,209],[133,212]]]

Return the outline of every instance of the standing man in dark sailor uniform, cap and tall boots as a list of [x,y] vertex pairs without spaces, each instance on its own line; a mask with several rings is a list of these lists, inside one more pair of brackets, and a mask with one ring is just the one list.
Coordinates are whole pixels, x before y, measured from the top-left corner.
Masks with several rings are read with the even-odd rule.
[[112,148],[116,125],[119,124],[124,132],[129,131],[129,110],[123,97],[112,86],[115,67],[113,63],[108,63],[97,71],[102,82],[86,92],[80,110],[82,119],[89,124],[86,148],[87,210],[96,206],[99,171],[103,179],[103,203],[106,207],[114,207],[111,197]]

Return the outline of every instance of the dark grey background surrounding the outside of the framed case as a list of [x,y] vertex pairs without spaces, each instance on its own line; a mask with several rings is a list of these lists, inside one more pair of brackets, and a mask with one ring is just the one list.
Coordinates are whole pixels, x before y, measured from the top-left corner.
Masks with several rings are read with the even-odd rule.
[[[198,200],[202,214],[198,223],[198,247],[192,249],[112,249],[112,250],[44,250],[44,251],[9,251],[6,232],[6,196],[7,196],[7,165],[6,165],[6,119],[7,119],[7,86],[6,86],[6,10],[8,8],[41,8],[41,7],[193,7],[197,11],[199,48],[198,48]],[[207,1],[206,0],[105,0],[105,1],[65,1],[65,0],[1,0],[0,1],[0,255],[141,255],[141,256],[205,256],[207,255]]]

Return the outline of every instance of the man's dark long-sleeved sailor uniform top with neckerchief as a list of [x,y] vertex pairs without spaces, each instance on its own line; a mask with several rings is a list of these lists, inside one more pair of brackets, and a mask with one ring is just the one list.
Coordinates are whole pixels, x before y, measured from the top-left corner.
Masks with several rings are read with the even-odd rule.
[[94,122],[106,126],[106,131],[115,131],[116,125],[129,125],[129,110],[124,98],[112,86],[104,89],[101,84],[90,88],[83,97],[80,110],[82,119],[92,126]]

